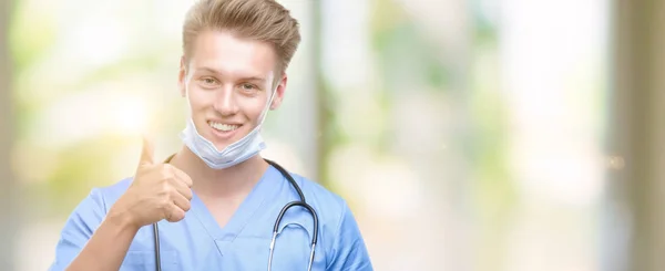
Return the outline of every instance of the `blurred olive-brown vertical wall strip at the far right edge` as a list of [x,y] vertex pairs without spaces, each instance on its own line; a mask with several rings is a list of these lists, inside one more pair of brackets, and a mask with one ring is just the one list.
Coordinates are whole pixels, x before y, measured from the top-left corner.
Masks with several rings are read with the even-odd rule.
[[[610,152],[620,159],[610,174],[613,219],[606,239],[630,240],[623,270],[665,267],[665,1],[614,1],[614,100]],[[625,164],[625,167],[624,167]],[[628,216],[626,216],[630,213]],[[627,232],[614,229],[624,223]],[[618,234],[615,234],[618,233]],[[625,236],[625,237],[624,237]],[[623,258],[607,257],[607,270]]]

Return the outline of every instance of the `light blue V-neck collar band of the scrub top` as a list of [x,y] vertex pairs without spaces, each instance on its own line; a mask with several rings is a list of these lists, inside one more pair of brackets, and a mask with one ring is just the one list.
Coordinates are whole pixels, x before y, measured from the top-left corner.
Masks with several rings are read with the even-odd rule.
[[[276,168],[269,166],[224,227],[219,227],[214,216],[203,204],[201,198],[198,198],[195,192],[192,192],[193,197],[191,210],[201,221],[207,233],[215,240],[215,242],[217,242],[218,247],[219,241],[233,242],[233,240],[235,240],[235,238],[249,223],[256,211],[262,209],[262,206],[266,201],[265,199],[268,198],[270,191],[276,192],[276,189],[272,189],[276,185],[276,181],[270,181],[270,179],[274,179],[273,176],[275,174],[279,173]],[[219,252],[222,252],[222,249]]]

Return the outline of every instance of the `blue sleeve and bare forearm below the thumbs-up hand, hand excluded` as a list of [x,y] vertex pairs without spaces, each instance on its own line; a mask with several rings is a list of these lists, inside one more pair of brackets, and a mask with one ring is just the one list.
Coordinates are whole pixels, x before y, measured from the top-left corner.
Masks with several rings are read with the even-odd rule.
[[104,212],[102,195],[94,189],[68,219],[50,270],[120,269],[139,228],[126,216]]

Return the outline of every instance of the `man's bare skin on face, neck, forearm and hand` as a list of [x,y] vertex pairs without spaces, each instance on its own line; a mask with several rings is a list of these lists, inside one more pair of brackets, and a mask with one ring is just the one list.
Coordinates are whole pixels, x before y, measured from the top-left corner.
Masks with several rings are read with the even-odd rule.
[[[223,149],[259,124],[273,91],[269,110],[279,107],[287,76],[275,74],[277,56],[267,43],[224,31],[203,31],[192,45],[192,55],[181,59],[180,94],[190,103],[198,133]],[[209,121],[239,127],[216,134]],[[153,144],[144,139],[132,185],[68,270],[120,269],[139,229],[163,219],[184,219],[193,192],[224,227],[267,168],[268,164],[256,155],[229,168],[212,169],[186,146],[164,164],[155,160]]]

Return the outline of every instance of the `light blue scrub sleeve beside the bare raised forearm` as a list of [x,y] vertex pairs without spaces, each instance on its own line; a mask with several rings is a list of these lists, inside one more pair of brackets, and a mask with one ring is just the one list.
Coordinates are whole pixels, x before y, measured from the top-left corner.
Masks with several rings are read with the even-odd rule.
[[64,223],[60,240],[55,246],[55,260],[49,269],[50,271],[64,270],[74,260],[101,225],[105,212],[102,192],[93,189],[74,208]]

